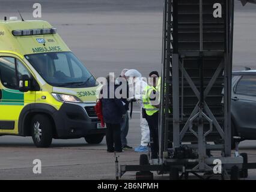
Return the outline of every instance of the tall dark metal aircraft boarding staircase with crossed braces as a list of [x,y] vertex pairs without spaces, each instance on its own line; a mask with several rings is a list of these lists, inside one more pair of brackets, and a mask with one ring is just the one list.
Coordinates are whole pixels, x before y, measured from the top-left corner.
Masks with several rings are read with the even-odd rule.
[[[222,8],[217,18],[216,3]],[[195,170],[209,168],[207,150],[231,155],[233,6],[229,0],[165,1],[160,154],[166,158],[172,144],[190,142],[198,152]]]

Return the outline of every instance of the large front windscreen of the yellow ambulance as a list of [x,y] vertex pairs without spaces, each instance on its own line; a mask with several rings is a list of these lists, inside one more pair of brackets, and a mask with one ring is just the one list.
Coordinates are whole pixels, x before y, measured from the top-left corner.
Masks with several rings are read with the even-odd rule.
[[52,86],[67,88],[96,86],[96,79],[72,52],[37,53],[25,57]]

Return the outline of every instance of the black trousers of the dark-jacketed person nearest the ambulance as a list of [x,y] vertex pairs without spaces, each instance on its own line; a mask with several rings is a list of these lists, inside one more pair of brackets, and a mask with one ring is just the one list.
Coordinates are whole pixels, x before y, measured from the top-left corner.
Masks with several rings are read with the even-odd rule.
[[121,125],[106,123],[106,144],[109,152],[121,152]]

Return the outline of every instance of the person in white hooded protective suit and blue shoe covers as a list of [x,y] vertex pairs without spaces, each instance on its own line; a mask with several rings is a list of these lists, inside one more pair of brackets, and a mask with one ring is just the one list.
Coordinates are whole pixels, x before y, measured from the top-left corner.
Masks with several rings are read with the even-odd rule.
[[147,152],[148,151],[148,143],[150,142],[150,130],[148,128],[148,122],[142,115],[142,111],[144,111],[144,105],[142,102],[142,95],[145,87],[147,86],[147,82],[142,79],[141,73],[138,70],[132,69],[126,71],[124,74],[126,77],[129,77],[129,92],[132,99],[137,100],[137,103],[140,107],[140,127],[141,127],[141,145],[135,148],[135,152]]

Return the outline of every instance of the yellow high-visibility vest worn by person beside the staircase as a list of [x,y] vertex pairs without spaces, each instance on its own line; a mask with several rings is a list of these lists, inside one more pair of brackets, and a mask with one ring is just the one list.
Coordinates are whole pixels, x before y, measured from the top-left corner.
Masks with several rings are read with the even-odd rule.
[[155,88],[153,88],[153,86],[146,86],[144,91],[143,91],[143,97],[142,97],[142,100],[143,100],[143,104],[144,104],[144,109],[147,113],[147,115],[149,116],[152,116],[154,115],[154,113],[158,112],[158,108],[152,106],[150,104],[150,94],[152,91],[156,91]]

